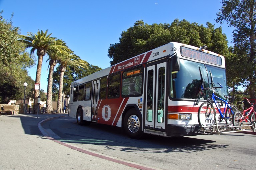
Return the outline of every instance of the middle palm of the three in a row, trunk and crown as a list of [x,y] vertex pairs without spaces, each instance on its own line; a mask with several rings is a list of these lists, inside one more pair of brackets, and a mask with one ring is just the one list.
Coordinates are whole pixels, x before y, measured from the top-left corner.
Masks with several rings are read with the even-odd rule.
[[[53,113],[52,108],[52,82],[53,82],[53,71],[54,67],[57,64],[57,60],[60,60],[62,57],[62,53],[68,48],[66,46],[66,43],[62,40],[56,40],[56,45],[58,46],[57,51],[55,52],[49,52],[49,58],[47,61],[49,61],[49,76],[48,76],[48,85],[47,85],[47,100],[46,100],[46,113]],[[47,62],[46,61],[46,62]],[[48,68],[49,68],[48,66]]]

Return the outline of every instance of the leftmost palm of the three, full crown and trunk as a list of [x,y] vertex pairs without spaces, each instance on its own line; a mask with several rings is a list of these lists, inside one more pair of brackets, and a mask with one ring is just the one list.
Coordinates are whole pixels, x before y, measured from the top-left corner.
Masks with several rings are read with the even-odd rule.
[[[37,70],[36,70],[36,81],[35,83],[40,84],[41,79],[41,69],[42,69],[42,62],[43,62],[43,56],[45,56],[46,53],[54,52],[57,50],[56,43],[54,37],[51,37],[52,33],[48,34],[48,30],[41,32],[38,30],[37,34],[33,34],[29,32],[27,35],[20,35],[19,41],[22,41],[26,44],[26,47],[32,47],[30,51],[30,55],[34,53],[35,50],[37,50],[36,54],[38,56],[38,64],[37,64]],[[40,89],[39,89],[40,90]],[[34,93],[34,110],[33,113],[37,111],[37,97],[39,96],[39,90],[35,90]]]

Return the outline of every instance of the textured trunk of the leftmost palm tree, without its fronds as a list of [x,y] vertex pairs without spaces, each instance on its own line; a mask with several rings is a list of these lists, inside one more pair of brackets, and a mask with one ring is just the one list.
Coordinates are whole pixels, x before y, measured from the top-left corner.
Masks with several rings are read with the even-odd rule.
[[[40,84],[40,79],[41,79],[42,63],[43,63],[43,55],[38,55],[38,63],[37,63],[35,83],[39,83],[39,84]],[[40,90],[40,86],[39,86],[39,90]],[[37,113],[37,108],[38,108],[37,98],[39,96],[39,90],[35,90],[35,93],[34,93],[33,113]]]

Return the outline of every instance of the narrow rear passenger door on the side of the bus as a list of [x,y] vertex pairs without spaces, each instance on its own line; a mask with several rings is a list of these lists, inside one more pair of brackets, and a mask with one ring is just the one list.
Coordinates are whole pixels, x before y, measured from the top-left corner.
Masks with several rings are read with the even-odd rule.
[[98,100],[99,100],[99,80],[93,81],[92,87],[92,121],[98,121]]

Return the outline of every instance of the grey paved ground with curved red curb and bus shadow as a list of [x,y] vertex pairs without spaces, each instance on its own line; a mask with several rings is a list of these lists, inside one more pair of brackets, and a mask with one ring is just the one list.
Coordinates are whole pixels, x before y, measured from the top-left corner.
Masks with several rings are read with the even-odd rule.
[[[40,130],[50,136],[44,137],[37,123],[56,116],[41,122]],[[43,114],[39,119],[34,115],[1,116],[0,169],[256,168],[253,134],[147,135],[133,140],[120,128],[93,123],[79,126],[75,119],[61,116],[66,115]]]

